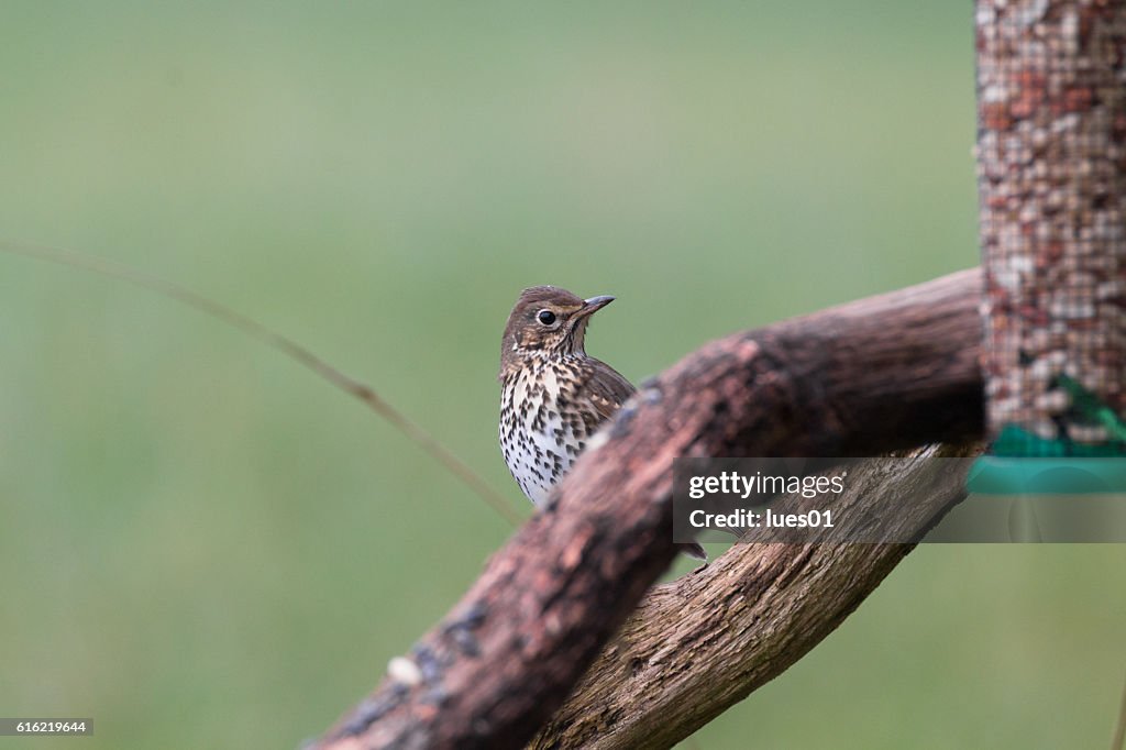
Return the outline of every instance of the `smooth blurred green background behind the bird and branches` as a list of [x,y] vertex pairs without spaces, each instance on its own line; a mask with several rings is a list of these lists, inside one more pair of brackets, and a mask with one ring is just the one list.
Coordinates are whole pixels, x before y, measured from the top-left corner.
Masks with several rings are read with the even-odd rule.
[[[966,3],[0,6],[0,236],[175,279],[495,447],[520,288],[634,381],[976,262]],[[0,255],[0,748],[293,748],[510,528],[169,300]],[[698,748],[1105,747],[1121,546],[930,546]]]

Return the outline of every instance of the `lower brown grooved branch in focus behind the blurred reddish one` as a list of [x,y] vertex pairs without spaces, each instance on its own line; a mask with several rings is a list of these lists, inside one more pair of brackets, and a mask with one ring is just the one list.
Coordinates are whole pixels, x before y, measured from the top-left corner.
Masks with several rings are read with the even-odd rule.
[[[936,482],[929,459],[980,450],[930,446],[914,453],[920,462],[852,466],[833,512],[883,509],[891,536],[918,538],[966,494],[962,474]],[[913,548],[752,538],[652,589],[529,747],[672,747],[820,643]]]

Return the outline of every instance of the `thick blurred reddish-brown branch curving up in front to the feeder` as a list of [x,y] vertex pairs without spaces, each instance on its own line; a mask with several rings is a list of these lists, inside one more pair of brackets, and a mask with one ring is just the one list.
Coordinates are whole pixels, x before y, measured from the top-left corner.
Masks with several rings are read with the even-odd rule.
[[678,456],[859,456],[978,436],[980,289],[963,271],[738,333],[643,384],[549,507],[318,747],[527,742],[676,554]]

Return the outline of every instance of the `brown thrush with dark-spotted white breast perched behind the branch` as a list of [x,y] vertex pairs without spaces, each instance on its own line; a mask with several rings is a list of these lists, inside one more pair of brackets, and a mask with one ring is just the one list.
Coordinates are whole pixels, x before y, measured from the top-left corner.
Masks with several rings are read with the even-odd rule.
[[[611,302],[609,295],[584,300],[557,286],[533,286],[520,293],[504,325],[500,447],[520,490],[539,508],[595,432],[637,391],[586,350],[591,315]],[[678,548],[707,559],[698,544]]]

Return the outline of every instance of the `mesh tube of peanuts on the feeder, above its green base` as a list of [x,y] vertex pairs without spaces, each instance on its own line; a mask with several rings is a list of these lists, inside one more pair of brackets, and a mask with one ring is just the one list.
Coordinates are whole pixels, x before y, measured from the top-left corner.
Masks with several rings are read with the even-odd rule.
[[978,0],[989,427],[1108,439],[1067,375],[1126,410],[1126,2]]

